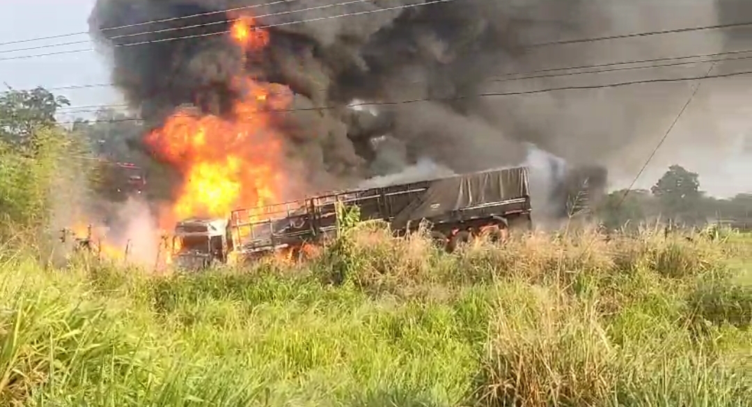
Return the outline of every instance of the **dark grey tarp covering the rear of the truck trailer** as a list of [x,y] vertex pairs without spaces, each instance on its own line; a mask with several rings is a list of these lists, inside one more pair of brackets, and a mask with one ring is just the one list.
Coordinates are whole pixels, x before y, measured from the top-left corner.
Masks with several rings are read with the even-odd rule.
[[394,217],[392,226],[405,228],[408,222],[528,196],[526,167],[436,179],[420,199],[414,200]]

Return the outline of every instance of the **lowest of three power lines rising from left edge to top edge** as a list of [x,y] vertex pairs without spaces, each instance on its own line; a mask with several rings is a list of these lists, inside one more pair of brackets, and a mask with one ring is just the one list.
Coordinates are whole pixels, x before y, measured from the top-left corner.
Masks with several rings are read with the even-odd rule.
[[[402,10],[406,8],[417,8],[417,7],[423,7],[427,5],[435,5],[439,3],[448,3],[448,2],[454,2],[456,0],[431,0],[430,2],[424,2],[424,3],[417,3],[417,4],[410,4],[410,5],[398,5],[388,8],[378,8],[375,10],[365,10],[365,11],[356,11],[353,13],[344,13],[344,14],[336,14],[333,16],[324,16],[324,17],[315,17],[310,18],[306,20],[298,20],[298,21],[288,21],[285,23],[274,23],[274,24],[265,24],[262,26],[254,26],[253,29],[268,29],[271,27],[280,27],[280,26],[293,26],[295,24],[302,24],[302,23],[314,23],[317,21],[324,21],[324,20],[334,20],[337,18],[343,18],[343,17],[352,17],[352,16],[359,16],[359,15],[365,15],[365,14],[373,14],[373,13],[382,13],[384,11],[393,11],[393,10]],[[182,37],[173,37],[173,38],[159,38],[156,40],[147,40],[147,41],[138,41],[138,42],[132,42],[128,44],[114,44],[112,47],[135,47],[137,45],[145,45],[145,44],[156,44],[156,43],[162,43],[162,42],[171,42],[171,41],[180,41],[180,40],[187,40],[192,38],[205,38],[205,37],[211,37],[214,35],[224,35],[229,34],[229,30],[220,31],[220,32],[207,32],[203,34],[195,34],[195,35],[184,35]],[[41,54],[32,54],[32,55],[25,55],[25,56],[10,56],[5,58],[0,58],[0,61],[11,61],[14,59],[30,59],[30,58],[38,58],[42,56],[53,56],[53,55],[63,55],[63,54],[69,54],[69,53],[85,53],[85,52],[91,52],[95,50],[94,48],[83,48],[80,50],[67,50],[67,51],[57,51],[53,53],[41,53]]]

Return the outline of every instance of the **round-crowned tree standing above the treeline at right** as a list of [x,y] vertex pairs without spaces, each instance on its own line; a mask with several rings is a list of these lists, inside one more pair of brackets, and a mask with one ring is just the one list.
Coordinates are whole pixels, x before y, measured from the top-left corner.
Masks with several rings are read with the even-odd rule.
[[702,191],[699,190],[699,175],[681,165],[674,164],[650,188],[658,198],[663,214],[670,219],[694,222],[699,216]]

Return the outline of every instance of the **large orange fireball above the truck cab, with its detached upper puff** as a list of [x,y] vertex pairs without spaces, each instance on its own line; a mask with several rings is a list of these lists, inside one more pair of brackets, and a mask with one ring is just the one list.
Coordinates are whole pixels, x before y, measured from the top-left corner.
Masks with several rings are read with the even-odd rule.
[[[244,56],[268,44],[268,32],[255,25],[251,17],[241,17],[230,30]],[[252,77],[235,78],[232,86],[242,96],[230,115],[177,111],[146,137],[147,144],[183,176],[174,205],[160,219],[162,228],[191,216],[227,218],[238,207],[280,200],[284,153],[267,111],[289,106],[289,89],[274,89],[276,85]]]

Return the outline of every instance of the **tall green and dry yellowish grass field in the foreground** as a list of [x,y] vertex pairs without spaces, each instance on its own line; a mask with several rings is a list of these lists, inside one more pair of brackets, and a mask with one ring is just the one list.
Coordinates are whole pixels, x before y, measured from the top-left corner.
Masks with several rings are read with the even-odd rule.
[[750,249],[370,230],[193,276],[5,253],[0,405],[750,405]]

